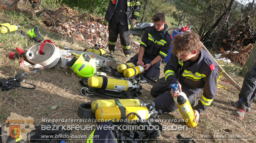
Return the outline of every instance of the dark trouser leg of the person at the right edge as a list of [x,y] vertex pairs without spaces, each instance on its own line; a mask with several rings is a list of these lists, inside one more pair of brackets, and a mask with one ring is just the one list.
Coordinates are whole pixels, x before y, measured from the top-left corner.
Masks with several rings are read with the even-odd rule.
[[237,107],[246,110],[251,107],[254,98],[256,98],[256,68],[252,67],[244,77]]

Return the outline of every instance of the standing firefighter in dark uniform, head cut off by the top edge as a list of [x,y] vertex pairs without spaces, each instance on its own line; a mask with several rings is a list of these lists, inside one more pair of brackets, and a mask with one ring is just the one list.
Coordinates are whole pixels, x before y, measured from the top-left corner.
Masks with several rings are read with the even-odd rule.
[[120,42],[124,54],[127,58],[131,55],[130,47],[130,29],[136,24],[141,9],[140,0],[109,0],[109,7],[104,19],[104,25],[109,22],[109,50],[114,54],[117,36],[120,36]]

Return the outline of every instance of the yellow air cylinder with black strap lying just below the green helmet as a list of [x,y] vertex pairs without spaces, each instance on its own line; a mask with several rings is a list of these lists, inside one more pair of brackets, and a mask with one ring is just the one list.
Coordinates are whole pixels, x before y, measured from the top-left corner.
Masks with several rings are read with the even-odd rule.
[[119,91],[127,91],[129,87],[133,86],[131,81],[128,80],[116,80],[112,78],[103,78],[102,76],[90,76],[87,83],[91,88],[103,88]]

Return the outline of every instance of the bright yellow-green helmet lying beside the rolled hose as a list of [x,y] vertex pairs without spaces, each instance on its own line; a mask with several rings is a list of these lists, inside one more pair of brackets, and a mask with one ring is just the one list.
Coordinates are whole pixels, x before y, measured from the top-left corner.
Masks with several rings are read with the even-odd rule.
[[82,53],[71,69],[79,77],[90,77],[96,72],[96,60],[92,59],[88,54]]

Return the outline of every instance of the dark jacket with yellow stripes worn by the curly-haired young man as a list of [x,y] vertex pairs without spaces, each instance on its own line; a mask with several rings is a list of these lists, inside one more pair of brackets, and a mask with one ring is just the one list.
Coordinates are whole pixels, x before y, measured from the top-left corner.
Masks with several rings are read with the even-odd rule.
[[218,67],[205,50],[201,50],[199,59],[192,65],[189,61],[184,62],[171,54],[164,67],[164,73],[167,85],[183,83],[182,85],[186,85],[186,88],[192,89],[194,93],[198,93],[203,88],[202,98],[194,107],[199,114],[213,101],[217,89]]

